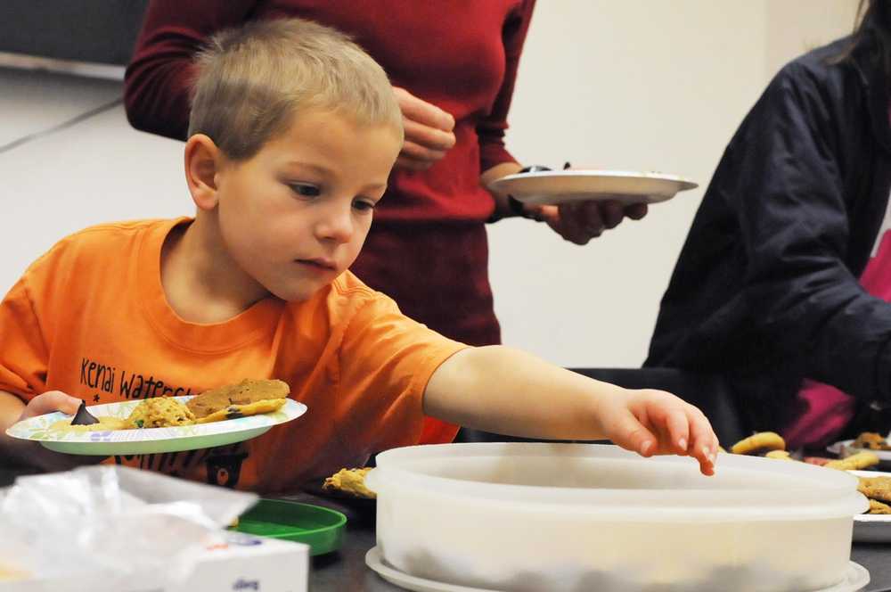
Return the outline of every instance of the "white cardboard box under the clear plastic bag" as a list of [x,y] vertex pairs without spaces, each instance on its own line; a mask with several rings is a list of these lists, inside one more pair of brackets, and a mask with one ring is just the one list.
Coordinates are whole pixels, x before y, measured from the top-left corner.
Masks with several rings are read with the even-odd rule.
[[[182,584],[132,588],[124,592],[307,592],[309,547],[287,540],[261,539],[225,531],[208,547]],[[96,589],[94,582],[70,579],[0,583],[0,592],[60,592]],[[86,588],[85,588],[86,587]]]

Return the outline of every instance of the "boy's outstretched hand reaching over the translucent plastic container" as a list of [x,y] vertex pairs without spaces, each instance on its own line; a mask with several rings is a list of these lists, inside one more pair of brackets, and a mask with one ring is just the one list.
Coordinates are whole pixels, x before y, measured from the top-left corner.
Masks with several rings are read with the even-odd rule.
[[601,407],[607,438],[641,456],[693,456],[704,475],[715,474],[718,439],[697,407],[664,391],[625,391]]

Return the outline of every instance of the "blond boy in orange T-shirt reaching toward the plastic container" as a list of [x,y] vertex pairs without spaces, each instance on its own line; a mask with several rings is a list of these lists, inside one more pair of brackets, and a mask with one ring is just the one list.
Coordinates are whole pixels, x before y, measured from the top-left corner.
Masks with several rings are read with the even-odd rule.
[[[95,404],[274,377],[307,404],[299,420],[230,447],[116,462],[270,493],[412,444],[428,414],[605,437],[713,473],[717,441],[695,407],[447,340],[347,271],[403,130],[385,73],[346,37],[297,20],[217,35],[199,57],[189,136],[193,220],[74,234],[0,305],[0,430],[72,413],[71,395]],[[44,469],[84,462],[2,438],[2,454]]]

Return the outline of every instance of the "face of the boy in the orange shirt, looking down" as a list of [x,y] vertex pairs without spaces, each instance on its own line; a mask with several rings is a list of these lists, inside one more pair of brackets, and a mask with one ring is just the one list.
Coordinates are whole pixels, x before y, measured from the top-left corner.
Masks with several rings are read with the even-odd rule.
[[349,267],[401,149],[393,127],[309,111],[217,171],[219,230],[241,269],[282,300],[307,300]]

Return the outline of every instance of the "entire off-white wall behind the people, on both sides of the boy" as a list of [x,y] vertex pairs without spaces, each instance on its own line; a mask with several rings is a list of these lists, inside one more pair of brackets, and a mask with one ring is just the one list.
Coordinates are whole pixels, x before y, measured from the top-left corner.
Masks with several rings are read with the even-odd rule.
[[[565,366],[637,366],[723,146],[772,73],[845,34],[855,0],[540,0],[509,144],[520,160],[662,170],[699,181],[585,247],[491,227],[504,340]],[[0,151],[120,95],[118,82],[0,70]],[[0,293],[63,234],[191,212],[182,144],[120,106],[0,152]]]

